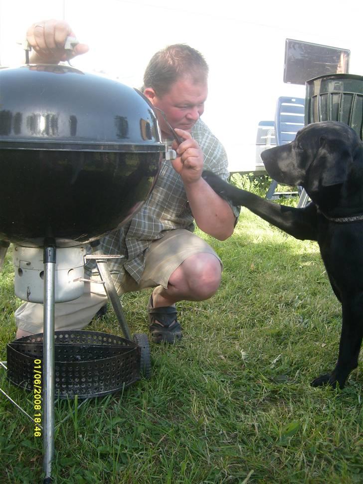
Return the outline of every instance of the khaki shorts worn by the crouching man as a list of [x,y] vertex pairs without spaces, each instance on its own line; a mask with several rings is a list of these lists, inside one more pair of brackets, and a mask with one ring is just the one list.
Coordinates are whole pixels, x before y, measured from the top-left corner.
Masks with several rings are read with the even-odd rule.
[[[147,255],[145,270],[138,284],[128,273],[117,287],[119,295],[125,292],[141,291],[148,287],[168,287],[172,273],[189,256],[197,253],[215,255],[223,269],[222,262],[214,250],[200,237],[193,233],[177,229],[169,231],[163,239],[152,242]],[[96,281],[85,283],[85,291],[81,297],[69,302],[55,305],[55,329],[82,329],[89,324],[96,312],[107,302],[103,284]],[[43,331],[43,305],[25,302],[15,311],[15,323],[18,329],[29,333]]]

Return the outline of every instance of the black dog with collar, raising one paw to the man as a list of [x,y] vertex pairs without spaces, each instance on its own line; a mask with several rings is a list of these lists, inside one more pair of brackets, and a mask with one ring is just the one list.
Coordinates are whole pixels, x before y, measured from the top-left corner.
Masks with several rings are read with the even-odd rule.
[[305,188],[312,202],[295,209],[239,190],[204,171],[222,197],[243,205],[296,239],[317,241],[333,291],[342,303],[339,356],[332,373],[313,386],[339,383],[358,366],[363,336],[363,143],[348,125],[326,121],[303,128],[295,140],[262,153],[276,181]]

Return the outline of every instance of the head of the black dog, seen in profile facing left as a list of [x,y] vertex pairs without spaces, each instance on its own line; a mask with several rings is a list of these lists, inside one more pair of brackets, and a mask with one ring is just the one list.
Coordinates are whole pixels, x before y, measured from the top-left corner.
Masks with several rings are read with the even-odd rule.
[[292,143],[263,151],[267,173],[286,185],[300,185],[308,194],[343,184],[362,143],[347,124],[336,121],[312,123]]

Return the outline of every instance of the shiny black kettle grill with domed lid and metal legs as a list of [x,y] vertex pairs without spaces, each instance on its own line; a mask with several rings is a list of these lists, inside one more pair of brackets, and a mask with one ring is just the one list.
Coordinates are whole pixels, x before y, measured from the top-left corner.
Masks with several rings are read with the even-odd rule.
[[[44,482],[51,480],[54,453],[57,253],[62,259],[64,250],[97,241],[130,220],[150,195],[166,152],[153,107],[130,87],[68,66],[40,64],[0,70],[0,258],[4,247],[13,242],[22,254],[24,247],[39,248],[43,259],[41,270],[33,272],[44,288],[40,291],[44,295],[44,333],[33,345],[43,342]],[[107,262],[96,253],[102,262],[98,264],[101,278],[120,321],[122,309]],[[37,262],[39,258],[38,254]],[[21,255],[15,276],[25,278],[32,264]],[[66,268],[65,273],[67,276],[72,269]],[[29,287],[25,300],[31,300]],[[65,300],[78,296],[68,295]],[[130,339],[127,327],[126,338]],[[20,340],[14,343],[25,347]],[[136,343],[140,355],[140,340]]]

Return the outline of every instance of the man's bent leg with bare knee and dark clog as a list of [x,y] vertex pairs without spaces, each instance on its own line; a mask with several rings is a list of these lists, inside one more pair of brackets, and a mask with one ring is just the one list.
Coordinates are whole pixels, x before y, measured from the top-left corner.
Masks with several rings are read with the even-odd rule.
[[181,338],[175,303],[201,301],[219,287],[222,263],[200,237],[178,229],[153,242],[146,257],[143,287],[155,287],[148,304],[152,339],[174,343]]

